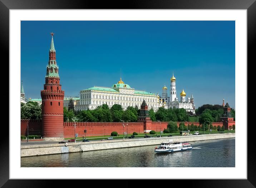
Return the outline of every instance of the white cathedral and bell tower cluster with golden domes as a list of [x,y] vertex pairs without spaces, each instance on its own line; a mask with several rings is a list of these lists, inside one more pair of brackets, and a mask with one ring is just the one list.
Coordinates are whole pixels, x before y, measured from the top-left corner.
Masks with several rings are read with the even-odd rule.
[[[171,85],[170,85],[170,97],[167,97],[167,87],[164,86],[162,88],[162,97],[159,97],[159,102],[167,103],[168,108],[184,108],[187,112],[195,114],[195,104],[194,104],[194,97],[191,94],[191,98],[187,98],[186,100],[186,93],[184,89],[180,93],[180,101],[178,100],[176,94],[176,78],[174,74],[171,77]],[[166,108],[166,107],[165,107]]]

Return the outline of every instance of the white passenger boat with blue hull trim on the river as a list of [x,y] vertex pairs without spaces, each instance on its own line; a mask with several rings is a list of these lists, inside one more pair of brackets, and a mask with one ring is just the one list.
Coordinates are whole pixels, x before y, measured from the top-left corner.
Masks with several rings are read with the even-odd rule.
[[193,147],[188,142],[163,142],[159,147],[155,147],[156,153],[172,153],[190,150]]

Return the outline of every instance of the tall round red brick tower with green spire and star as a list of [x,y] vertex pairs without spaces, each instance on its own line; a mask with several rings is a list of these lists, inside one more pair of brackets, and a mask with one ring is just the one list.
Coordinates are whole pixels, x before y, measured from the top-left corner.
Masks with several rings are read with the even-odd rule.
[[61,90],[59,67],[56,63],[56,52],[51,33],[51,46],[49,62],[46,67],[44,90],[42,98],[42,125],[43,138],[48,141],[63,140],[63,99],[64,91]]

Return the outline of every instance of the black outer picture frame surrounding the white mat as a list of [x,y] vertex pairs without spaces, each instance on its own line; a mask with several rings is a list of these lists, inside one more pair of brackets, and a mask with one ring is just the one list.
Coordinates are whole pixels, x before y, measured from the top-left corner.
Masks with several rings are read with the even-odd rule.
[[[129,0],[129,1],[87,1],[87,0],[0,0],[0,41],[2,62],[9,62],[9,10],[10,9],[245,9],[247,10],[247,66],[253,65],[255,61],[255,47],[256,47],[256,2],[255,0]],[[6,60],[3,60],[6,58]],[[246,62],[245,62],[246,66]],[[247,75],[253,75],[253,69],[247,70]],[[246,78],[244,78],[246,79]],[[253,79],[249,79],[248,83]],[[253,84],[252,84],[253,85]],[[255,85],[255,84],[254,84]],[[248,84],[248,86],[250,86]],[[245,91],[246,92],[246,91]],[[247,96],[255,96],[254,91],[246,92]],[[247,101],[245,101],[247,102]],[[248,109],[244,109],[248,110]],[[252,111],[248,110],[248,117],[253,117]],[[251,116],[250,116],[251,115]],[[247,117],[244,117],[245,125],[247,126]],[[240,125],[237,125],[240,126]],[[252,123],[253,126],[253,123]],[[9,140],[6,127],[6,134],[2,134],[2,140]],[[255,187],[256,186],[256,168],[255,168],[255,152],[253,149],[254,132],[247,129],[247,179],[190,179],[182,180],[182,184],[189,187]],[[57,182],[56,180],[25,180],[25,179],[9,179],[9,143],[0,142],[1,146],[1,160],[0,160],[0,187],[51,187],[49,183]],[[4,151],[4,152],[3,152]],[[152,172],[155,173],[155,172]],[[186,172],[184,172],[186,173]],[[66,176],[68,179],[68,176]],[[225,178],[225,177],[223,177]],[[114,179],[114,177],[113,177]],[[97,180],[98,181],[98,180]],[[110,180],[107,182],[111,183]],[[122,187],[128,187],[132,180],[124,180]],[[161,186],[158,181],[146,180],[143,184],[150,186]],[[134,182],[133,182],[134,183]],[[176,184],[178,183],[178,184]],[[86,185],[89,182],[86,180]],[[119,184],[119,183],[118,183]],[[168,181],[166,185],[170,186],[181,184],[181,180]],[[120,185],[120,184],[119,184]],[[66,181],[58,181],[58,187],[67,186]]]

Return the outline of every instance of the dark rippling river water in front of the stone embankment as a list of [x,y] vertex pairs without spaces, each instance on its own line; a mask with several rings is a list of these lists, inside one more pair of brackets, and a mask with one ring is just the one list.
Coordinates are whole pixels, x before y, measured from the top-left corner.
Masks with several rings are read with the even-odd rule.
[[235,138],[189,142],[189,151],[157,154],[157,146],[21,157],[21,167],[235,167]]

